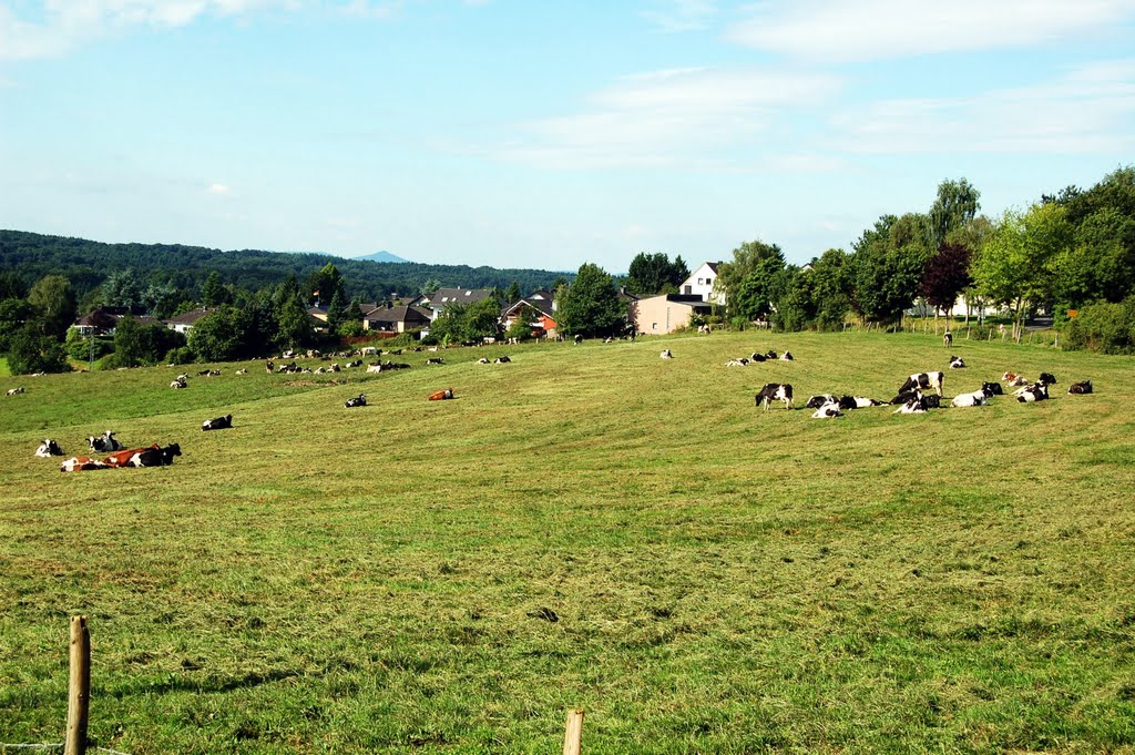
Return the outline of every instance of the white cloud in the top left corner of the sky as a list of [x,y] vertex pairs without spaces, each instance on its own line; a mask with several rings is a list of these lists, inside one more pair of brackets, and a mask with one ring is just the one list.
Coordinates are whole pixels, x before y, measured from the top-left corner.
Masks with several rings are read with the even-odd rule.
[[199,16],[238,16],[300,0],[45,0],[43,19],[18,18],[0,5],[0,60],[57,56],[87,40],[138,26],[175,27]]

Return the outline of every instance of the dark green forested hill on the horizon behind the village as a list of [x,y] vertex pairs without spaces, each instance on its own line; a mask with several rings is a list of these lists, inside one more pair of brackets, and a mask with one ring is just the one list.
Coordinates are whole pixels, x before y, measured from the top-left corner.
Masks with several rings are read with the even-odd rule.
[[0,270],[31,286],[45,275],[70,279],[77,297],[100,286],[108,276],[132,270],[144,282],[193,291],[216,270],[221,283],[259,290],[294,275],[305,280],[328,262],[343,275],[348,296],[377,301],[390,294],[417,292],[427,280],[468,288],[508,287],[528,292],[548,287],[558,277],[550,270],[472,268],[464,265],[371,262],[330,254],[267,252],[185,246],[182,244],[106,244],[85,238],[0,230]]

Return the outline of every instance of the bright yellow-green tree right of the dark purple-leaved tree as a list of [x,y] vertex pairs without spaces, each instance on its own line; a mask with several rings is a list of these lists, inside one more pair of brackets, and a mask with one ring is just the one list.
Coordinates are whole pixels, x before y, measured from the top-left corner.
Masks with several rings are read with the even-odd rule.
[[1067,211],[1057,203],[1028,210],[1007,210],[985,244],[974,255],[975,287],[1012,313],[1019,343],[1028,308],[1052,301],[1054,265],[1073,240]]

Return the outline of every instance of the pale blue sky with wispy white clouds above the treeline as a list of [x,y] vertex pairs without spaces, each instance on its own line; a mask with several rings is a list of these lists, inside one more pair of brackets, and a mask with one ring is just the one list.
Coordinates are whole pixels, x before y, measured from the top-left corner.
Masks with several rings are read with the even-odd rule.
[[0,228],[802,263],[1135,162],[1135,0],[0,0]]

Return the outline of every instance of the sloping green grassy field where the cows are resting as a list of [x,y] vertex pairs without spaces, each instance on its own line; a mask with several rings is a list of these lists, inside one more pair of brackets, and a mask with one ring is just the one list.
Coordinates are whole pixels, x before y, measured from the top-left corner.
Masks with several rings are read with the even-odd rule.
[[[797,361],[724,367],[770,347]],[[947,395],[1043,369],[1056,400],[817,421],[753,396],[885,400],[941,341],[473,363],[505,351],[0,378],[0,741],[61,740],[82,613],[91,737],[134,755],[552,753],[571,707],[588,753],[1135,752],[1135,360],[960,341]],[[32,455],[104,429],[184,455]]]

